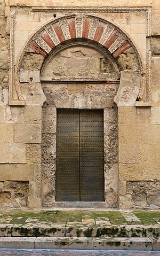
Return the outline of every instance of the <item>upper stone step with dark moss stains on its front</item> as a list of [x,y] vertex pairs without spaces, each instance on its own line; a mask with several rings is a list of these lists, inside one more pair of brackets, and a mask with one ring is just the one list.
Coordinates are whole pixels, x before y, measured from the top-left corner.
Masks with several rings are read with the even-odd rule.
[[1,237],[159,237],[159,225],[0,224]]

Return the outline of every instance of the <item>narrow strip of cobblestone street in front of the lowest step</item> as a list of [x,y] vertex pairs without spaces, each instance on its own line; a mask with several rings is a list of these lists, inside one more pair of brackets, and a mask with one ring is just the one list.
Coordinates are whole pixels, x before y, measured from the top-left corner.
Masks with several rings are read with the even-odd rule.
[[160,256],[160,251],[5,250],[0,256]]

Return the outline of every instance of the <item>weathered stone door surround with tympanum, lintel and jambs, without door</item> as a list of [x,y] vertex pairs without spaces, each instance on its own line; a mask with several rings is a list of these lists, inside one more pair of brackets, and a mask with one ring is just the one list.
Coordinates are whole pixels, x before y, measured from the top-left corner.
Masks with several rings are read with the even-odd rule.
[[41,83],[47,103],[43,108],[43,206],[56,206],[58,203],[55,186],[58,153],[57,109],[63,108],[103,110],[104,204],[106,207],[117,207],[118,121],[117,107],[114,104],[119,87],[117,70],[107,57],[107,53],[105,55],[90,45],[80,43],[55,53],[44,67]]

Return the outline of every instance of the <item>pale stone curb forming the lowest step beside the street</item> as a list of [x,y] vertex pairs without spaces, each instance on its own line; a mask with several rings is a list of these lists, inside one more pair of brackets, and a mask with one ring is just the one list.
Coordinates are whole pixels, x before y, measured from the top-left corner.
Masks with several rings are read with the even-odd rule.
[[160,248],[160,238],[0,237],[0,248],[156,251]]

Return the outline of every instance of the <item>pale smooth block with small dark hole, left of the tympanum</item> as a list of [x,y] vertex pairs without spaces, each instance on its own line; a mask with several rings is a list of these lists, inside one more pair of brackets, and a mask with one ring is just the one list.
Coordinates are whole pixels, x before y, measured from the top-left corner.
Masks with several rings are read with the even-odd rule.
[[23,70],[20,69],[20,82],[21,83],[40,83],[40,73],[34,70]]

